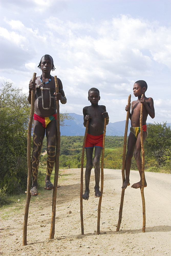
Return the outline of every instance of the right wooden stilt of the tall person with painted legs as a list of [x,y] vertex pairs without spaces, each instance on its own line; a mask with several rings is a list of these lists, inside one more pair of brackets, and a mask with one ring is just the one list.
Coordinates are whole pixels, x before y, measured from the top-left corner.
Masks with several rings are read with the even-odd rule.
[[[55,78],[56,93],[59,93],[57,76]],[[55,215],[56,215],[56,196],[58,186],[58,173],[59,173],[59,154],[60,154],[60,117],[59,117],[59,100],[56,100],[56,113],[57,113],[57,137],[56,137],[56,154],[55,154],[55,176],[54,176],[54,190],[52,197],[52,217],[49,239],[54,239],[55,235]]]

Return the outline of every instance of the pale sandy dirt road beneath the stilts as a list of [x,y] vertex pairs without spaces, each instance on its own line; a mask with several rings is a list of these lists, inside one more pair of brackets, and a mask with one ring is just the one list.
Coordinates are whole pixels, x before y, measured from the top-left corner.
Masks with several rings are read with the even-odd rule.
[[[67,175],[69,174],[69,175]],[[11,207],[1,221],[1,255],[23,256],[161,256],[171,255],[170,246],[170,174],[145,172],[146,232],[142,233],[142,200],[140,189],[125,191],[121,230],[116,232],[122,175],[121,170],[104,169],[104,189],[100,231],[97,235],[97,208],[94,197],[94,170],[90,181],[90,198],[83,201],[84,235],[80,225],[80,169],[62,171],[66,177],[57,190],[55,238],[49,240],[52,191],[32,197],[29,207],[27,246],[22,246],[24,202],[20,210]],[[131,171],[131,185],[139,181]],[[18,203],[18,202],[17,202]],[[71,211],[71,213],[68,213]],[[3,212],[2,212],[3,213]],[[40,227],[40,225],[44,227]]]

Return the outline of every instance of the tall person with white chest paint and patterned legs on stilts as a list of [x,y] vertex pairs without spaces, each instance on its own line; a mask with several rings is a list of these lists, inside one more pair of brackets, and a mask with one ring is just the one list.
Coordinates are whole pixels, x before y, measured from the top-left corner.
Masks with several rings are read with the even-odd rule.
[[32,196],[37,196],[37,174],[39,166],[39,157],[41,154],[42,142],[45,136],[47,137],[47,171],[45,177],[46,189],[51,190],[53,184],[50,181],[50,176],[55,163],[55,147],[57,136],[56,123],[56,100],[60,100],[62,104],[67,102],[63,91],[62,82],[58,78],[59,93],[55,91],[55,79],[51,76],[50,71],[55,69],[53,59],[50,55],[45,55],[41,58],[38,68],[42,74],[36,77],[36,82],[32,79],[29,83],[28,101],[31,103],[31,89],[35,90],[35,114],[33,125],[33,153],[31,158],[33,184],[30,189]]

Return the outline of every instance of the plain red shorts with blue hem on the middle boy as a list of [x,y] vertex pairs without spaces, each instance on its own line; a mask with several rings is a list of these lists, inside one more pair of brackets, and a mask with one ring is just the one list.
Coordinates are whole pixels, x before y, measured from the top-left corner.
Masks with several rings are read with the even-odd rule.
[[103,133],[99,136],[87,134],[85,148],[101,147],[103,148]]

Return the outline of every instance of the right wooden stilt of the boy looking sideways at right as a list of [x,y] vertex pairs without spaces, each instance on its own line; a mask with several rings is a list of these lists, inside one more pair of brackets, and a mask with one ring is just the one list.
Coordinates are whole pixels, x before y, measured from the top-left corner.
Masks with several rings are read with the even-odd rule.
[[[142,94],[141,98],[144,98]],[[145,232],[145,197],[144,197],[144,140],[143,140],[143,104],[141,103],[141,113],[140,113],[140,135],[141,135],[141,151],[142,151],[142,167],[141,167],[141,198],[143,204],[143,228],[142,231]]]

